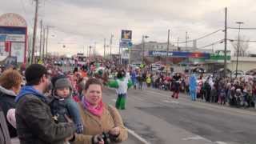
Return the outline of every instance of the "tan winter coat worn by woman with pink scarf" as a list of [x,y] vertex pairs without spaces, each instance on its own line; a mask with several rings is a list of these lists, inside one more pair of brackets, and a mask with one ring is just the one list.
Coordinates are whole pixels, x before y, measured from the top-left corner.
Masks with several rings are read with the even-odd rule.
[[102,132],[107,133],[115,126],[120,128],[120,134],[115,142],[123,142],[128,138],[128,132],[116,108],[105,104],[101,118],[90,114],[88,110],[84,109],[81,103],[79,103],[79,109],[83,126],[86,127],[83,134],[75,134],[74,144],[92,144],[91,139],[94,135],[102,134]]

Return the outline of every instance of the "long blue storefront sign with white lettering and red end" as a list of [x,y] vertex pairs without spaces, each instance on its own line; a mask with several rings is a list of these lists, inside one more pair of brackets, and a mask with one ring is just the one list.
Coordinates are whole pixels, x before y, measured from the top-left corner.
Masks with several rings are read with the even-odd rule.
[[149,56],[153,57],[174,57],[174,58],[210,58],[210,54],[201,52],[183,51],[149,51]]

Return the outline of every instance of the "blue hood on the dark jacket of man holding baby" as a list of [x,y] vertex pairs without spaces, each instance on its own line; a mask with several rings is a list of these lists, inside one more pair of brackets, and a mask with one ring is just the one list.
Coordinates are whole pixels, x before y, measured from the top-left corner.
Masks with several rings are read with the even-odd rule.
[[15,98],[15,102],[18,102],[18,100],[22,97],[24,97],[27,94],[32,94],[42,100],[46,100],[46,97],[40,93],[38,90],[34,89],[34,86],[23,86],[22,90],[19,92],[18,96]]

